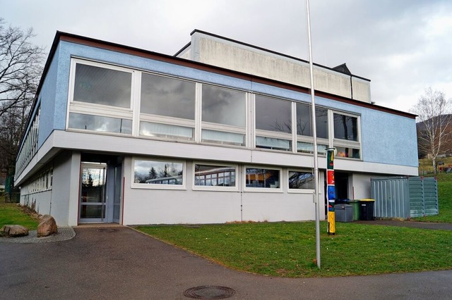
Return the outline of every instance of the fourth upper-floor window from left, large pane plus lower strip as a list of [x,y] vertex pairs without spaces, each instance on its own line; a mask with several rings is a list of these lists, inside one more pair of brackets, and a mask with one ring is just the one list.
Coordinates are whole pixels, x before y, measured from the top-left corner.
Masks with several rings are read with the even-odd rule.
[[256,147],[292,150],[292,102],[256,95]]

